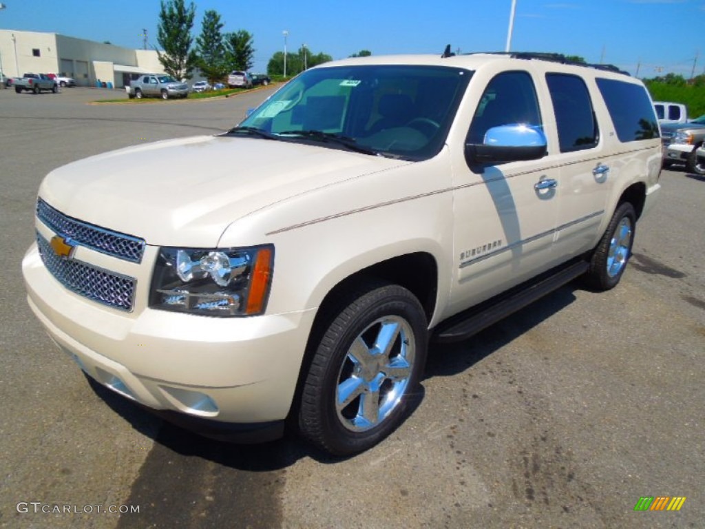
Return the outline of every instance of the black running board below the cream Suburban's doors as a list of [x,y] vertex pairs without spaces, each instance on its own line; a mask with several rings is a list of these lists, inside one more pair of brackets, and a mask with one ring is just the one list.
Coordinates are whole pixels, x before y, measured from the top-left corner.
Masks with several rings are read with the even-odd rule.
[[572,262],[527,281],[505,294],[500,294],[497,298],[491,298],[465,312],[460,312],[436,327],[433,340],[447,343],[470,338],[491,324],[503,320],[513,312],[570,283],[587,272],[589,266],[589,263],[584,260]]

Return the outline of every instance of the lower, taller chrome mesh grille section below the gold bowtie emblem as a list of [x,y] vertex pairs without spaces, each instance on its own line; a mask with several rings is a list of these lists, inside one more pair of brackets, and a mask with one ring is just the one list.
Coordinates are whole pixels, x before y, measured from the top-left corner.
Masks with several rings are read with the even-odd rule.
[[85,262],[65,259],[54,253],[49,241],[37,233],[42,262],[59,283],[80,296],[121,310],[133,310],[137,280],[108,272]]

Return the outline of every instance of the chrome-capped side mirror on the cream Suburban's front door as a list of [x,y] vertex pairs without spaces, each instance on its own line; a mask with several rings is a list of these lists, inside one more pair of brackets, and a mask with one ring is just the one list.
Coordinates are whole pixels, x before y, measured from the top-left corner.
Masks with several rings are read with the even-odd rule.
[[546,156],[548,142],[538,126],[514,124],[492,127],[482,144],[466,143],[468,165],[495,165],[503,162],[536,160]]

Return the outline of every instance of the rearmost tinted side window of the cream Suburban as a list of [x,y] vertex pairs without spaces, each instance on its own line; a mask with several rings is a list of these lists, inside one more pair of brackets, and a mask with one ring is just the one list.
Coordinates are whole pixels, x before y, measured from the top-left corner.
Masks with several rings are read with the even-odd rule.
[[658,138],[658,121],[646,88],[614,79],[597,79],[621,142]]

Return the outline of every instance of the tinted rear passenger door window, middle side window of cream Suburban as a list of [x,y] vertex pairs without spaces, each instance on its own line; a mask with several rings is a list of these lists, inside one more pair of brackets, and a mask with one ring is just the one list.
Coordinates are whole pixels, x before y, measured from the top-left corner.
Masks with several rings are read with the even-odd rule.
[[546,83],[556,114],[560,152],[595,147],[598,130],[590,94],[583,80],[577,75],[547,73]]

